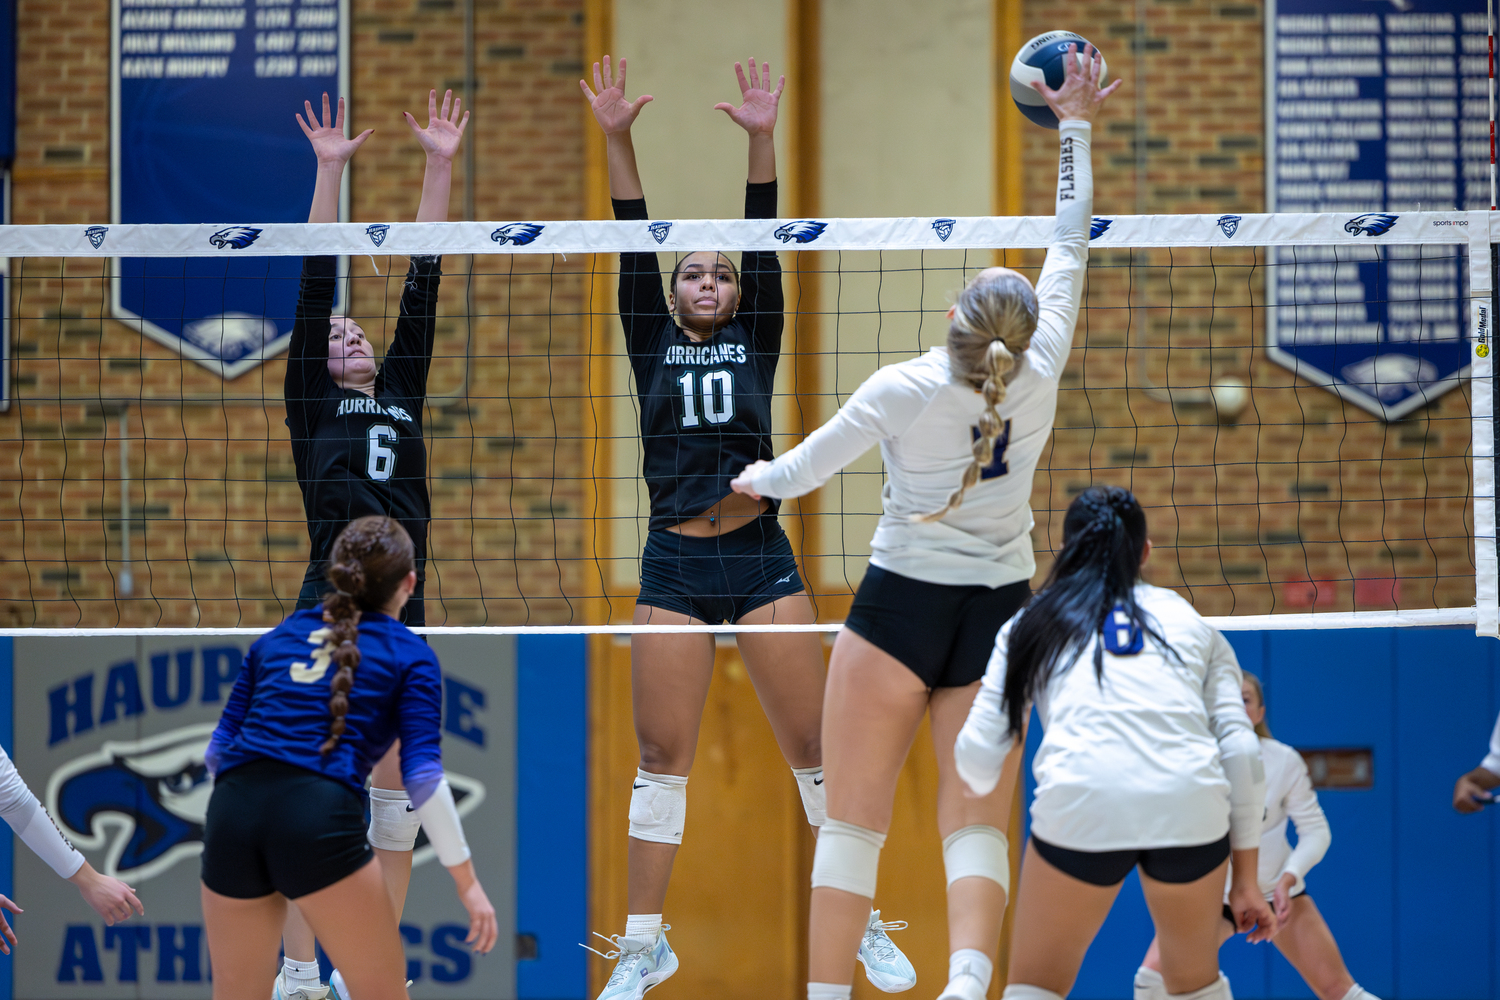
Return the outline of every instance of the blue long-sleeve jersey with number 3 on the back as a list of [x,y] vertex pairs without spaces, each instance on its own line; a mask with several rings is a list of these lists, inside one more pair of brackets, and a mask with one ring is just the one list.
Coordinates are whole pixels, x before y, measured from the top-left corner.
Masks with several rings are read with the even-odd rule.
[[432,648],[394,618],[360,619],[360,666],[354,669],[344,738],[327,756],[328,682],[338,666],[324,643],[322,609],[296,612],[250,646],[234,691],[208,741],[208,771],[272,759],[342,781],[364,795],[364,780],[396,738],[400,778],[412,808],[442,781],[442,676]]

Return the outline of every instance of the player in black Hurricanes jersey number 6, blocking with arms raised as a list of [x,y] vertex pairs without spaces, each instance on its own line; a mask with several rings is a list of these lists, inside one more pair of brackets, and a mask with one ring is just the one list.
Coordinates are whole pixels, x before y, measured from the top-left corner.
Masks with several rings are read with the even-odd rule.
[[[434,90],[428,94],[428,127],[404,115],[426,153],[417,222],[447,222],[453,157],[468,123],[462,103],[450,90],[440,109]],[[328,94],[322,94],[321,123],[310,102],[306,115],[306,120],[297,115],[297,123],[318,157],[308,222],[338,222],[345,165],[374,129],[345,138],[344,99],[333,117]],[[332,315],[334,268],[332,256],[303,258],[302,295],[286,357],[286,427],[312,540],[297,609],[318,606],[330,589],[324,564],[339,532],[356,517],[384,514],[400,522],[416,549],[417,588],[400,621],[424,625],[422,597],[432,502],[422,417],[432,364],[441,258],[411,258],[400,315],[382,364],[375,363],[374,349],[354,319]],[[417,837],[417,823],[406,813],[410,802],[400,781],[399,748],[398,742],[370,775],[370,844],[381,859],[398,916],[406,900],[411,843]],[[296,909],[288,910],[285,951],[276,1000],[321,1000],[324,987],[314,961],[312,931]],[[334,978],[334,991],[338,984]]]

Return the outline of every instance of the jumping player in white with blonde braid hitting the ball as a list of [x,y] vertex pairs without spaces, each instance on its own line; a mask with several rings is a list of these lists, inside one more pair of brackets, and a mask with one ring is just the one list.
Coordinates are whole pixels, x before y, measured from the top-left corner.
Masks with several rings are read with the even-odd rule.
[[1032,474],[1052,436],[1089,256],[1089,123],[1119,85],[1100,88],[1098,60],[1066,63],[1060,90],[1040,88],[1062,121],[1062,148],[1053,244],[1036,288],[1004,267],[981,271],[948,310],[946,346],[880,369],[802,444],[732,484],[752,496],[802,496],[874,444],[888,475],[870,568],[828,667],[828,822],[813,861],[808,1000],[849,997],[850,942],[874,895],[896,780],[927,712],[948,876],[939,1000],[982,1000],[990,985],[1018,762],[999,790],[964,798],[952,744],[994,634],[1036,571]]

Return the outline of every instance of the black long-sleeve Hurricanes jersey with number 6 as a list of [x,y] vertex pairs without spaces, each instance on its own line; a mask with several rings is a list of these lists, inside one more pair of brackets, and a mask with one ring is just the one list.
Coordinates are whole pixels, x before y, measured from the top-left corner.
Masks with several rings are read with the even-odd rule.
[[441,273],[441,258],[411,258],[396,336],[375,375],[372,399],[358,390],[339,388],[328,375],[334,258],[303,258],[302,295],[286,357],[286,427],[312,538],[309,562],[327,559],[334,538],[356,517],[386,514],[411,535],[417,571],[423,574],[432,501],[422,406],[428,396]]

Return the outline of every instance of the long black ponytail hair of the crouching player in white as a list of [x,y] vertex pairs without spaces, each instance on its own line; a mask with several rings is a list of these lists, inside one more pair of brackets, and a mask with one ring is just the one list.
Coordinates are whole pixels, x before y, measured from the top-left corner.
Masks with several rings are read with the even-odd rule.
[[[1062,550],[1052,573],[1011,628],[1004,706],[1012,736],[1022,735],[1028,706],[1053,672],[1100,636],[1116,606],[1125,606],[1132,628],[1172,651],[1150,616],[1136,604],[1144,552],[1146,514],[1130,490],[1092,486],[1068,507]],[[1094,676],[1104,682],[1102,642],[1094,648]]]

